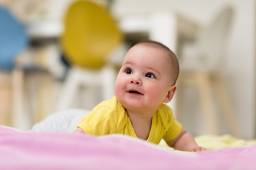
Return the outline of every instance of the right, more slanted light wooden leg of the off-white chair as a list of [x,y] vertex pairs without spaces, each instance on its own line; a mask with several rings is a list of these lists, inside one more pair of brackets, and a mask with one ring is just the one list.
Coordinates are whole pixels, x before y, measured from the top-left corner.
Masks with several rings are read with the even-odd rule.
[[233,107],[231,106],[230,99],[228,98],[228,93],[227,90],[225,89],[225,85],[222,79],[217,76],[213,77],[213,85],[215,87],[218,100],[220,101],[220,105],[223,109],[225,120],[228,123],[228,128],[230,132],[235,137],[241,137],[240,130],[238,128],[238,121],[236,120]]

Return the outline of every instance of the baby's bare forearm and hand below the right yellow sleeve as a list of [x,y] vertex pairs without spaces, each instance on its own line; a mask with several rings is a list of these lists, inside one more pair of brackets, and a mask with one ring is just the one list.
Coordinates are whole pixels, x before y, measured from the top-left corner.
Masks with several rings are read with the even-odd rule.
[[199,147],[196,144],[193,136],[184,128],[182,128],[181,133],[174,140],[168,141],[166,143],[169,145],[169,147],[173,147],[174,149],[181,151],[200,152],[206,150],[203,147]]

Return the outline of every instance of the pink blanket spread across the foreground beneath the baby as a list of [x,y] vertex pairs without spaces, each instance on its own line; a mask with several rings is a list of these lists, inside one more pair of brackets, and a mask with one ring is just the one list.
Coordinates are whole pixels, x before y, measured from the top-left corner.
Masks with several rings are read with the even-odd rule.
[[0,169],[256,169],[256,145],[201,153],[124,135],[17,132],[0,126]]

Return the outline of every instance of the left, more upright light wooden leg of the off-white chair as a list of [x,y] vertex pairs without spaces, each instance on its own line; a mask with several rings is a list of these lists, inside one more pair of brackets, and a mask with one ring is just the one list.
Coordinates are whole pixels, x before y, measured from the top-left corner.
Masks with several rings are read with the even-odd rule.
[[217,123],[215,118],[215,109],[210,88],[210,75],[207,72],[198,72],[197,84],[201,95],[203,117],[208,132],[212,135],[218,134]]

